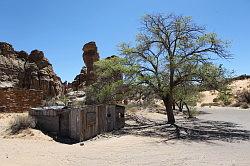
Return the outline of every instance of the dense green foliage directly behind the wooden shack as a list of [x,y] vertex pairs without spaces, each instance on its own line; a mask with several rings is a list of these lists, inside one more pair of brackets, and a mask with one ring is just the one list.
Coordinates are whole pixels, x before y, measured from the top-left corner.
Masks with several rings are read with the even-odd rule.
[[126,59],[116,56],[96,62],[94,72],[97,80],[87,88],[87,101],[111,104],[126,99],[136,70],[126,64]]

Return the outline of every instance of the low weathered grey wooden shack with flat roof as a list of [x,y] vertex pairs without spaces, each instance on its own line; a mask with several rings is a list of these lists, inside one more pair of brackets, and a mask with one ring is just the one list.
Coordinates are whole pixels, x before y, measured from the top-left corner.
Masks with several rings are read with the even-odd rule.
[[37,126],[49,133],[76,141],[124,127],[125,108],[119,105],[86,105],[81,108],[60,106],[33,108],[29,115]]

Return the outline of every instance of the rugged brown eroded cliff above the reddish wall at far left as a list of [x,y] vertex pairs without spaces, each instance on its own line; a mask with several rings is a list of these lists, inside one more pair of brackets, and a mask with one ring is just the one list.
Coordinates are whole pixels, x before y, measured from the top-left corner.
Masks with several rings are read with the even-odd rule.
[[63,93],[60,77],[44,53],[33,50],[15,51],[12,45],[0,42],[0,87],[42,90],[44,99]]

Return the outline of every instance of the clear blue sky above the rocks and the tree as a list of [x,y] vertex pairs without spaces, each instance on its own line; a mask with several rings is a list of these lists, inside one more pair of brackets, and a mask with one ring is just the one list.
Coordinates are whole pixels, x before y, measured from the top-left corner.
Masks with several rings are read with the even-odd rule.
[[101,58],[134,41],[147,13],[192,16],[197,24],[231,41],[234,59],[223,60],[236,74],[250,74],[249,0],[1,0],[0,41],[16,50],[44,51],[62,80],[79,74],[82,46],[95,41]]

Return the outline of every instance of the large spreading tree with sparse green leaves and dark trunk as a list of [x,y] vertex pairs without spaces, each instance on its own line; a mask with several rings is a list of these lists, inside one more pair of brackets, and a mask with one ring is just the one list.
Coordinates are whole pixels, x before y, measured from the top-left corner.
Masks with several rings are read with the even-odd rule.
[[172,105],[177,87],[201,83],[204,77],[199,69],[211,64],[216,56],[229,58],[227,46],[227,42],[215,33],[207,33],[191,17],[158,14],[146,15],[135,46],[123,43],[120,50],[138,69],[138,83],[163,100],[168,123],[174,124]]

